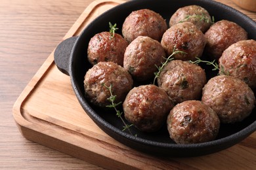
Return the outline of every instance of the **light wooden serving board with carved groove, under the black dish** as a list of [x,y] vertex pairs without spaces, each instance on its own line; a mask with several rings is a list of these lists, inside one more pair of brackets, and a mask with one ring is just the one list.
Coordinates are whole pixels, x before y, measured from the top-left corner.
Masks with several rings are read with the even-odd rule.
[[[91,3],[64,39],[83,28],[120,0]],[[221,152],[194,158],[156,157],[118,143],[106,135],[79,105],[70,77],[60,73],[53,53],[47,58],[13,108],[14,120],[26,139],[108,169],[253,169],[256,133]]]

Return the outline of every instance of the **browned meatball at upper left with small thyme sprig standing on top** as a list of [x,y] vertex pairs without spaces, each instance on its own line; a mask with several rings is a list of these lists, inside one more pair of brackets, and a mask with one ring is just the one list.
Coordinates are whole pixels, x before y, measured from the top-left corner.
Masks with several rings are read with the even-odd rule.
[[97,33],[91,38],[87,49],[87,58],[92,65],[100,61],[113,61],[123,66],[123,54],[128,42],[115,33],[111,37],[109,32]]

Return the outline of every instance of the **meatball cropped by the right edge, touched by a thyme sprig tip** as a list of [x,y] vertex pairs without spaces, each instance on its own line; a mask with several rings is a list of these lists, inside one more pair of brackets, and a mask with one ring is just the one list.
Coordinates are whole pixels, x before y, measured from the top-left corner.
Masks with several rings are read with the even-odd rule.
[[256,88],[256,41],[238,41],[226,48],[219,59],[219,67],[220,75],[235,76]]

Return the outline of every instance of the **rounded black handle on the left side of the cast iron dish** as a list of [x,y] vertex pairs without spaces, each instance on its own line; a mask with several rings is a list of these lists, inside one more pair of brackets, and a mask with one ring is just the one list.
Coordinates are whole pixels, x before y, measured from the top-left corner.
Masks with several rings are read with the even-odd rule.
[[70,37],[58,44],[54,51],[54,62],[57,68],[65,75],[70,75],[70,58],[72,48],[78,36]]

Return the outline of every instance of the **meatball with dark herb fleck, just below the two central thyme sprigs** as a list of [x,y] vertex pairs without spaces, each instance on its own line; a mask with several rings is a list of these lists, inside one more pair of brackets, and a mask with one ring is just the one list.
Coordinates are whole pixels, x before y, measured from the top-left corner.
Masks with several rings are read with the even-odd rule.
[[158,86],[168,93],[175,104],[200,99],[205,83],[205,71],[199,65],[181,60],[170,61],[158,77]]

